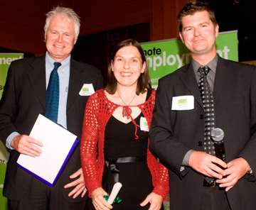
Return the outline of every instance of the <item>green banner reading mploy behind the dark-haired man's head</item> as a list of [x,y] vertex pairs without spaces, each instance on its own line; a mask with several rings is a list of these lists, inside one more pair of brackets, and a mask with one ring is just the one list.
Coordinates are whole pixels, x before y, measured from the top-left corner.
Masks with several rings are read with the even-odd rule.
[[[219,33],[215,43],[220,57],[238,61],[238,31]],[[148,61],[151,84],[154,87],[161,77],[191,61],[190,52],[179,39],[142,43],[142,48]]]

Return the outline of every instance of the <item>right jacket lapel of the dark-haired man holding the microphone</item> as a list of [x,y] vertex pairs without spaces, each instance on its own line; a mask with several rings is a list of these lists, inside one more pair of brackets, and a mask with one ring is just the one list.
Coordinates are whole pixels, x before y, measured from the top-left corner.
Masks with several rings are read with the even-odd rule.
[[225,85],[228,83],[231,71],[228,68],[228,62],[221,57],[218,57],[218,64],[216,69],[216,75],[214,80],[213,101],[214,104],[218,101],[220,93],[225,89]]

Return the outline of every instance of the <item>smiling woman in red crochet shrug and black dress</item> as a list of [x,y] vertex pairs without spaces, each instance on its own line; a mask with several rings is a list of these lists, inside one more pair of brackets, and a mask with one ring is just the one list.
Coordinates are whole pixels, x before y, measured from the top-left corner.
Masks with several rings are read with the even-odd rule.
[[[92,197],[86,209],[163,209],[168,170],[148,147],[156,92],[137,41],[124,40],[114,48],[107,79],[105,90],[92,94],[85,108],[80,152]],[[117,181],[123,184],[122,201],[110,205],[104,196]]]

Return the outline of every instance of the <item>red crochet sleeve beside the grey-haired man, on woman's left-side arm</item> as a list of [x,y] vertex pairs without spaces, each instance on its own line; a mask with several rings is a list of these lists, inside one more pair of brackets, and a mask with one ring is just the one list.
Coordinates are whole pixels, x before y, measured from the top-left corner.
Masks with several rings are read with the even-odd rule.
[[102,186],[101,179],[97,173],[97,142],[99,137],[99,124],[97,121],[97,98],[97,92],[95,92],[95,94],[92,94],[92,96],[90,96],[87,101],[84,121],[82,125],[82,138],[80,145],[82,172],[89,197],[91,197],[93,190]]

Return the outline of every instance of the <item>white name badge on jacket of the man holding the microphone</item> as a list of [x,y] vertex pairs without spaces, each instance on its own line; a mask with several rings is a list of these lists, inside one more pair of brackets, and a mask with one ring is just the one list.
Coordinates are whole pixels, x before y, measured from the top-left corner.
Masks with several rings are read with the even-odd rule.
[[191,110],[194,109],[193,96],[175,96],[171,104],[171,110]]

